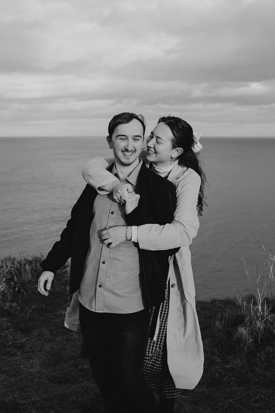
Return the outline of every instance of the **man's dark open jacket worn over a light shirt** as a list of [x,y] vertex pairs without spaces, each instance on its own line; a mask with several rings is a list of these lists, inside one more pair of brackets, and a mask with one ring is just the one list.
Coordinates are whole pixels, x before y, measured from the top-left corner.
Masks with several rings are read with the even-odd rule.
[[[113,165],[109,170],[112,171]],[[176,190],[167,179],[150,172],[142,164],[136,187],[141,195],[139,205],[125,218],[128,225],[146,223],[165,224],[173,220],[176,208]],[[43,271],[56,271],[63,267],[71,257],[70,293],[78,290],[87,252],[90,244],[90,227],[93,219],[94,200],[98,193],[89,184],[73,206],[71,218],[62,231],[60,240],[55,242],[46,259],[42,261]],[[140,249],[143,262],[144,285],[148,307],[151,309],[165,299],[165,287],[168,273],[168,257],[179,248],[165,251]]]

